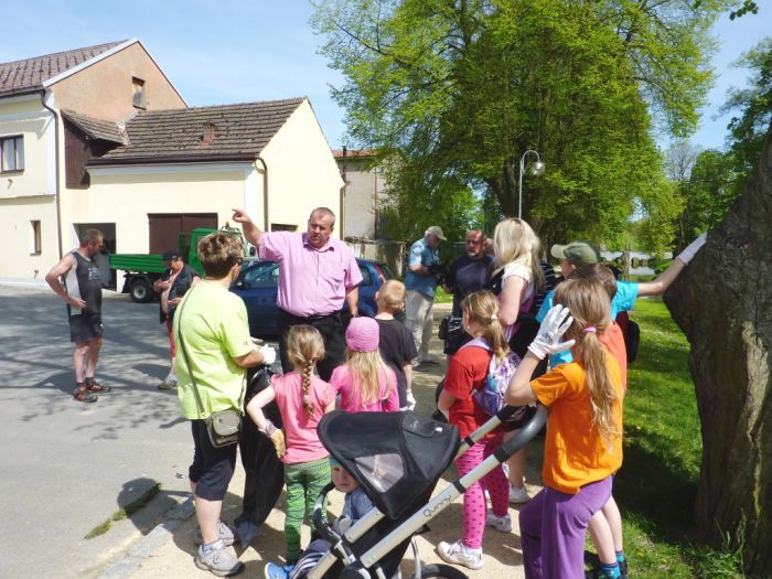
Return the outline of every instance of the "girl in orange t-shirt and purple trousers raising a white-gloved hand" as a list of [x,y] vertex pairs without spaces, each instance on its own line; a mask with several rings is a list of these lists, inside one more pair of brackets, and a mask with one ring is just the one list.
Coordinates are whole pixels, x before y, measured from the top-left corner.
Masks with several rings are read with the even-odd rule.
[[[554,302],[507,389],[511,405],[539,401],[549,408],[544,490],[519,514],[523,561],[526,579],[583,579],[589,521],[611,496],[622,465],[624,394],[620,366],[601,343],[611,323],[602,286],[570,278],[558,286]],[[542,360],[569,349],[572,362],[530,380]],[[619,577],[619,566],[604,566],[603,573]]]

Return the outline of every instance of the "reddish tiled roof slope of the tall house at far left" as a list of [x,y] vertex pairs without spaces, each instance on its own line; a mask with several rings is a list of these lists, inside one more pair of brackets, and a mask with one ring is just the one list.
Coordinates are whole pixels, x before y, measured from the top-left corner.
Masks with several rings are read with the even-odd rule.
[[23,61],[0,63],[0,96],[40,89],[49,78],[90,61],[124,42],[126,41],[108,42]]

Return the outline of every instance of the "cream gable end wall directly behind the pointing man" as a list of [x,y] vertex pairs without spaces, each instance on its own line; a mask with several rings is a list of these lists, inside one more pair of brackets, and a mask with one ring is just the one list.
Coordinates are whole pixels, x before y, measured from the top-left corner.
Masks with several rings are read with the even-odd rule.
[[[326,206],[340,215],[343,180],[308,99],[287,119],[260,157],[268,165],[270,224],[296,225],[303,232],[314,207]],[[260,228],[265,225],[262,218],[257,223]],[[333,236],[340,234],[339,223]]]

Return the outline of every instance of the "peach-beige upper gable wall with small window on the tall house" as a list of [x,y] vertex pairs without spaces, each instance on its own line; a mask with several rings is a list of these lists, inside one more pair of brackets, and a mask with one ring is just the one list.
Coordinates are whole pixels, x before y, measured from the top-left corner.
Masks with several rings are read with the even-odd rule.
[[52,84],[50,89],[57,109],[125,121],[138,110],[132,105],[132,77],[144,81],[148,110],[186,106],[139,42]]

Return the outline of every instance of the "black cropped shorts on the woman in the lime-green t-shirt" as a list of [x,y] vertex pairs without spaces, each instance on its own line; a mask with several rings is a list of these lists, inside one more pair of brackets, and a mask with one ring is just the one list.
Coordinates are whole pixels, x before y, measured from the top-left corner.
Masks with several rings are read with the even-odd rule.
[[195,450],[187,478],[195,483],[196,496],[207,501],[222,501],[236,468],[238,444],[213,447],[204,420],[191,420],[191,429]]

